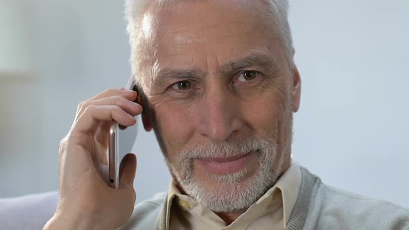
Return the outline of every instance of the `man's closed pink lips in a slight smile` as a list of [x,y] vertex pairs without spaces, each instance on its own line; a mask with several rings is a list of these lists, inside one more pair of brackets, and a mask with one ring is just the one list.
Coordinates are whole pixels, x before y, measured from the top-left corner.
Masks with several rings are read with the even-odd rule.
[[228,174],[238,172],[249,165],[255,157],[254,152],[240,154],[233,157],[207,157],[196,159],[204,170],[215,174]]

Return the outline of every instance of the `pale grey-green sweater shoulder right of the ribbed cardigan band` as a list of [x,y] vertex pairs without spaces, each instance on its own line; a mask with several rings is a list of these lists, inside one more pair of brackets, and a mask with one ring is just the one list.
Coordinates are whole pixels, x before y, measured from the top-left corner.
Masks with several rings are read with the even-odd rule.
[[320,179],[306,229],[409,229],[409,210],[385,200],[327,186]]

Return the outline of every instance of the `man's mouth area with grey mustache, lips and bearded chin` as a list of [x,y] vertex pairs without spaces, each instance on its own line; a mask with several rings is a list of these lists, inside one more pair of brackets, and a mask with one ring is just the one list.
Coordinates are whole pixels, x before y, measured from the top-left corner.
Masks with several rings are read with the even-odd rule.
[[[249,153],[232,157],[232,152]],[[283,159],[274,141],[254,137],[196,147],[166,163],[183,193],[211,211],[226,213],[248,209],[272,188]]]

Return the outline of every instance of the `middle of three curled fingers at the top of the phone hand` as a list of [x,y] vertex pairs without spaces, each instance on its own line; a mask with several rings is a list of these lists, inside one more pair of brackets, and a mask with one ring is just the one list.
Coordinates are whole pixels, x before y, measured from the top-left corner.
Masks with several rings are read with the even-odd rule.
[[116,105],[121,107],[123,110],[125,110],[125,112],[132,116],[137,116],[142,112],[142,107],[138,103],[134,103],[133,101],[129,100],[128,98],[124,98],[123,96],[116,95],[97,100],[84,101],[77,111],[77,117],[79,117],[90,105]]

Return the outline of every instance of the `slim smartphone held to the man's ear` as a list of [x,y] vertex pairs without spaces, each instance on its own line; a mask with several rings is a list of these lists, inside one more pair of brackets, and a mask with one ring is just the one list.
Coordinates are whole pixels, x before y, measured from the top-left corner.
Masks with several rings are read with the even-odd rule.
[[[134,78],[131,77],[126,89],[136,90]],[[108,185],[119,188],[124,165],[123,158],[132,151],[137,139],[138,125],[125,127],[112,121],[110,126],[110,141],[108,144]]]

